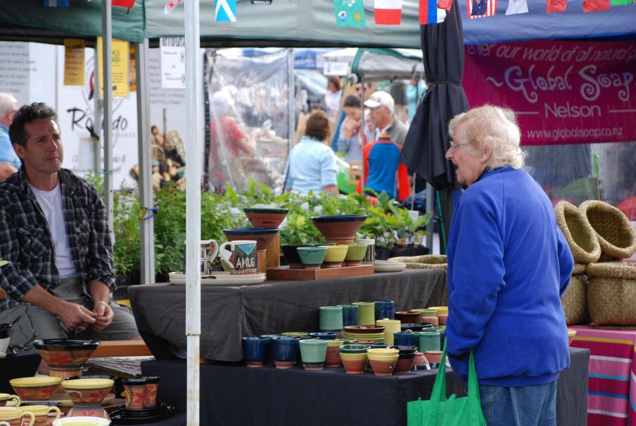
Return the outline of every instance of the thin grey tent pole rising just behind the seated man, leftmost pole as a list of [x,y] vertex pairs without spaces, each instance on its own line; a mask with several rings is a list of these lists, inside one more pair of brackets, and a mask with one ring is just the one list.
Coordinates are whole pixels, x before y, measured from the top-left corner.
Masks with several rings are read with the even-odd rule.
[[[113,16],[111,0],[102,1],[102,72],[104,73],[104,204],[108,229],[114,244],[113,231]],[[95,90],[99,91],[97,85]]]

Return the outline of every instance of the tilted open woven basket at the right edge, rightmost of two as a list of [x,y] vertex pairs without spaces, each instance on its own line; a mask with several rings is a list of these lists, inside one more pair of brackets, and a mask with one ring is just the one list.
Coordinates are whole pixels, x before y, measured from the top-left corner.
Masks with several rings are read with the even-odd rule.
[[625,213],[597,200],[584,201],[579,209],[597,233],[598,244],[604,254],[601,260],[626,259],[636,252],[636,230]]

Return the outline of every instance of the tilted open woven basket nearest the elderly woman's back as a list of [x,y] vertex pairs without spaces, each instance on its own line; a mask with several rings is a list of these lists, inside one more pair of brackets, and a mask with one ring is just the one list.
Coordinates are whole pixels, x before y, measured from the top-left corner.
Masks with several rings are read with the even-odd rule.
[[576,205],[561,201],[555,206],[555,216],[556,224],[561,228],[574,260],[580,263],[598,261],[598,237],[583,212]]

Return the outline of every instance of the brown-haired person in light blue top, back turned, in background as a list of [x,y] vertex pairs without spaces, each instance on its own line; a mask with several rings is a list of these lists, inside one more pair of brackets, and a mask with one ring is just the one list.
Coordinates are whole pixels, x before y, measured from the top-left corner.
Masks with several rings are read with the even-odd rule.
[[336,156],[324,144],[329,135],[329,117],[318,109],[307,118],[305,136],[287,158],[285,189],[306,195],[309,191],[338,193]]

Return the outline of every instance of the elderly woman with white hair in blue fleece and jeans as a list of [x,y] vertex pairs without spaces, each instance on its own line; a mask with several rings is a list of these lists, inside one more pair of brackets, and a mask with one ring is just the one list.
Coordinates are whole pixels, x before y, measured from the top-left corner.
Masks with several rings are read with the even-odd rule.
[[446,158],[467,186],[448,241],[447,352],[466,380],[474,350],[489,426],[556,426],[569,367],[560,296],[574,260],[543,189],[523,170],[515,113],[485,105],[453,118]]

